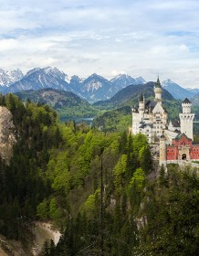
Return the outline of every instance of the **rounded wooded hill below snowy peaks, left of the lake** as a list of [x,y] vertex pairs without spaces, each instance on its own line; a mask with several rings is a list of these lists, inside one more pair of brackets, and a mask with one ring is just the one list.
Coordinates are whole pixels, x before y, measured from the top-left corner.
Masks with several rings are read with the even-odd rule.
[[20,91],[16,95],[22,100],[47,104],[58,112],[60,118],[65,117],[92,117],[97,111],[78,95],[71,91],[61,91],[54,89],[43,89],[38,91]]

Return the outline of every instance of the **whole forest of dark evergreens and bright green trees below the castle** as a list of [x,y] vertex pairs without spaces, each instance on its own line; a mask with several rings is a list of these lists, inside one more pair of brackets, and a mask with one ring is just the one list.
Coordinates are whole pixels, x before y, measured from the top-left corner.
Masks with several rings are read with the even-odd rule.
[[[50,107],[0,96],[17,142],[0,165],[0,233],[34,239],[34,220],[62,233],[40,255],[197,255],[198,169],[158,169],[143,134],[59,123]],[[28,235],[27,235],[28,234]]]

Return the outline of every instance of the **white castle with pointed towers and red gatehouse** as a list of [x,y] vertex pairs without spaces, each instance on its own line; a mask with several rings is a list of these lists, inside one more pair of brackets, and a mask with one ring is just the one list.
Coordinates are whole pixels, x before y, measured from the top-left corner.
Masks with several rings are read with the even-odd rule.
[[154,101],[145,101],[141,93],[139,104],[132,108],[131,133],[143,133],[148,142],[160,143],[160,165],[199,159],[199,145],[193,144],[194,113],[192,102],[182,103],[180,121],[168,123],[168,112],[162,106],[162,86],[158,78],[154,84]]

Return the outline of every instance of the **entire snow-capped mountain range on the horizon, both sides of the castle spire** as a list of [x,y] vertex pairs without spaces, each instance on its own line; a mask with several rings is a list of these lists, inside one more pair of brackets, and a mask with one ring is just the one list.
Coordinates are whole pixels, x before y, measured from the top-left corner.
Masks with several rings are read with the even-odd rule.
[[[106,101],[118,91],[129,85],[141,85],[146,81],[142,77],[132,78],[127,74],[120,74],[111,80],[94,73],[86,79],[74,75],[69,77],[57,68],[47,67],[29,70],[26,75],[20,69],[6,71],[0,69],[0,91],[3,93],[41,90],[52,88],[56,90],[72,91],[79,97],[89,101]],[[175,99],[192,98],[199,89],[184,89],[172,80],[162,81],[162,87],[169,91]]]

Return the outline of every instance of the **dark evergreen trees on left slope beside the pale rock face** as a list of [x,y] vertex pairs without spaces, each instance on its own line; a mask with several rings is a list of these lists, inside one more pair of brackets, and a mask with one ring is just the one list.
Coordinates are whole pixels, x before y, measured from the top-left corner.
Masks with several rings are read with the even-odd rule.
[[57,114],[49,107],[30,101],[24,105],[12,94],[1,95],[0,101],[13,114],[17,138],[10,165],[1,163],[1,232],[8,238],[24,239],[26,222],[37,216],[47,219],[45,199],[51,189],[44,174],[49,151],[62,143],[62,137]]

